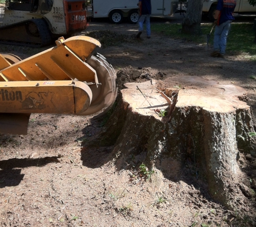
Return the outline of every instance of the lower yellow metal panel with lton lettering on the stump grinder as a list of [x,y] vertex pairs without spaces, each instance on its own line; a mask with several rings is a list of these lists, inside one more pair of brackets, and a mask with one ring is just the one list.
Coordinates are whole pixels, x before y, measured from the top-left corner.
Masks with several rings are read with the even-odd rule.
[[12,81],[0,88],[2,113],[82,115],[91,100],[91,89],[80,81]]

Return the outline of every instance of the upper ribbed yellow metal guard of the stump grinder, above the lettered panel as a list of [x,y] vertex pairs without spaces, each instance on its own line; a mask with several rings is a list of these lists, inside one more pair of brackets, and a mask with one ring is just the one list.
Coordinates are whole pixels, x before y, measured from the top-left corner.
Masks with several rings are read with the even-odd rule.
[[98,40],[78,36],[56,41],[57,46],[33,55],[10,66],[8,61],[0,58],[0,75],[2,81],[33,80],[74,80],[96,83],[95,70],[85,61],[96,46]]

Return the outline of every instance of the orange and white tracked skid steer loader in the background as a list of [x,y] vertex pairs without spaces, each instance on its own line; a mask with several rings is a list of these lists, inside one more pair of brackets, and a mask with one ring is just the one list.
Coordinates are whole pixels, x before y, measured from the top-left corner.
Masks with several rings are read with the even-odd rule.
[[0,43],[46,46],[86,29],[84,0],[6,0],[0,4]]

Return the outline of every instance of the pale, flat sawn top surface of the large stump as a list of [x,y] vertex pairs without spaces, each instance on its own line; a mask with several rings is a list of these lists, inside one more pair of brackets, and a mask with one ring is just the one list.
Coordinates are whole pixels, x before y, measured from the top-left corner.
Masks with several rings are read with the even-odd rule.
[[[181,78],[165,81],[167,96],[177,90],[175,82],[179,81],[182,88],[179,90],[177,107],[202,107],[205,110],[217,112],[230,112],[235,109],[250,108],[239,97],[247,95],[246,90],[232,84],[218,84],[197,76],[183,76]],[[168,102],[157,92],[157,81],[145,83],[126,83],[127,89],[122,90],[124,100],[137,112],[144,115],[152,115],[154,109],[163,109]],[[184,87],[187,86],[187,87]],[[131,102],[132,101],[132,102]]]

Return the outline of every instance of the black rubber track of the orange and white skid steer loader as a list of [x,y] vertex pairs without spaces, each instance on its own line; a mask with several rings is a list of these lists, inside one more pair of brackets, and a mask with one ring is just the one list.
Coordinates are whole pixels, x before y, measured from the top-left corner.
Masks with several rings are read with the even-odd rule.
[[[29,25],[29,23],[36,24],[38,32],[39,32],[40,42],[27,41],[27,39],[29,39],[29,37],[31,37],[31,34],[27,33],[27,29],[26,29],[26,27]],[[20,41],[20,40],[17,41],[15,39],[13,39],[13,40],[4,39],[5,29],[10,31],[10,29],[12,29],[12,28],[17,29],[17,27],[19,27],[21,30],[24,30],[26,32],[26,36],[23,37],[24,41]],[[2,39],[1,39],[1,35],[0,35],[0,43],[1,44],[30,46],[30,47],[43,47],[43,46],[50,45],[52,42],[50,31],[47,27],[46,22],[43,19],[25,20],[24,22],[21,22],[21,23],[13,24],[10,26],[0,27],[0,34],[3,34]],[[16,36],[19,36],[19,34],[16,34]],[[14,36],[12,36],[12,37],[14,37]]]

